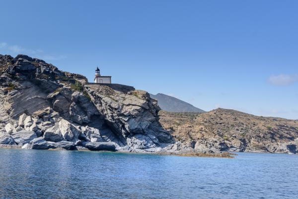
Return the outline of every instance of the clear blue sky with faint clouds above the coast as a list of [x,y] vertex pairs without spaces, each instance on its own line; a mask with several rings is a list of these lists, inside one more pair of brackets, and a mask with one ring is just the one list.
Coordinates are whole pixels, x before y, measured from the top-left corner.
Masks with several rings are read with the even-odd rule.
[[0,54],[298,119],[297,0],[0,0]]

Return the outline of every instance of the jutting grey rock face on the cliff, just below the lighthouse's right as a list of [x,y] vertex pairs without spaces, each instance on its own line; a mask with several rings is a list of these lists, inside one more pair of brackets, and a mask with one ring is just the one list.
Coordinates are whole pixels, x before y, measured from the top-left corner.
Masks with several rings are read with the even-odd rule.
[[85,86],[91,100],[102,115],[107,125],[118,139],[126,144],[127,137],[143,134],[158,142],[171,143],[173,140],[158,122],[158,106],[150,100],[144,91],[122,93],[101,85]]

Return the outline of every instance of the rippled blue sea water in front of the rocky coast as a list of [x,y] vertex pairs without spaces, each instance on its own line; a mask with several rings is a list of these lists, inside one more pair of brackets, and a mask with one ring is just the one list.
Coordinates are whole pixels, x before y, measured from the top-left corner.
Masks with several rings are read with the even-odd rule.
[[0,198],[293,199],[298,155],[234,159],[0,149]]

